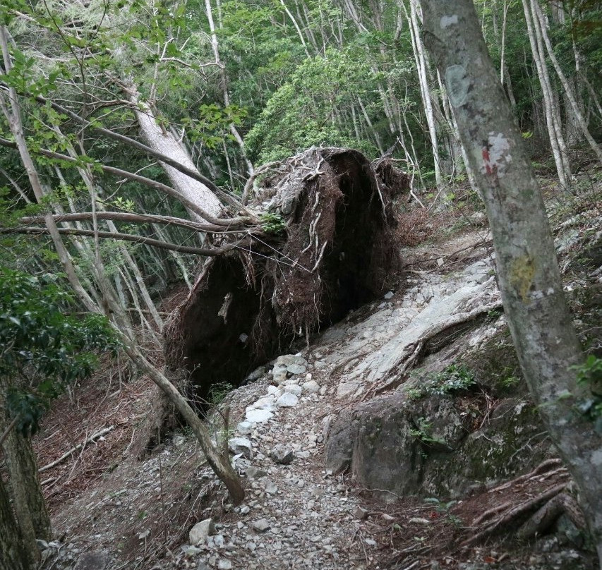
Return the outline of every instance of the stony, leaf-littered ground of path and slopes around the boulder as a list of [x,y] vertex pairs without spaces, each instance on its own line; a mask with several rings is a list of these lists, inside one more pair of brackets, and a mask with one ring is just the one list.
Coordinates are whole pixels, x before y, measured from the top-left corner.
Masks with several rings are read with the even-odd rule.
[[[567,205],[548,188],[569,290],[584,279],[597,291],[601,287],[600,191],[600,184],[593,183]],[[508,482],[487,482],[449,505],[446,497],[430,503],[387,497],[324,466],[328,418],[367,395],[358,389],[341,397],[347,372],[340,364],[349,360],[349,347],[371,337],[375,320],[380,318],[386,330],[392,315],[421,310],[426,287],[445,282],[451,294],[465,284],[466,267],[481,263],[486,272],[493,271],[484,216],[465,202],[464,208],[440,214],[408,215],[399,281],[390,293],[383,291],[384,298],[354,311],[299,352],[306,371],[287,381],[286,392],[296,395],[291,406],[270,404],[277,387],[269,372],[227,394],[233,430],[249,409],[272,413],[234,434],[251,443],[250,451],[242,450],[247,457],[236,458],[247,490],[239,507],[227,502],[224,487],[186,429],[164,436],[145,459],[132,456],[153,391],[147,378],[126,377],[124,363],[107,360],[102,374],[77,387],[71,398],[60,399],[35,442],[56,537],[44,550],[42,567],[593,570],[591,554],[554,535],[517,542],[508,538],[511,529],[502,528],[500,534],[462,546],[483,528],[484,523],[474,521],[484,511],[521,504],[566,482],[565,470],[555,463],[523,478],[524,473],[516,473]],[[582,270],[577,254],[583,251],[584,235],[588,244],[597,244],[598,257],[592,253]],[[592,259],[597,265],[591,265]],[[315,392],[302,388],[308,380],[317,383]],[[272,460],[277,444],[294,451],[291,463]],[[215,533],[201,545],[190,545],[188,532],[208,518],[215,522]]]

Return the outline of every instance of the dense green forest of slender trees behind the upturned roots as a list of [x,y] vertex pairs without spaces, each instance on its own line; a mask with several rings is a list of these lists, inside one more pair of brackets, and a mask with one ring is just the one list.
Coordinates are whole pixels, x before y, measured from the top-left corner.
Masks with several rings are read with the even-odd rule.
[[[476,8],[526,144],[536,160],[553,156],[570,191],[589,159],[577,151],[591,147],[600,158],[598,3],[495,0]],[[186,226],[125,215],[190,212],[150,183],[169,181],[148,137],[146,147],[135,144],[148,128],[140,110],[181,143],[225,203],[255,168],[311,145],[354,147],[371,159],[390,150],[421,204],[435,196],[452,204],[452,186],[471,181],[415,1],[11,1],[1,16],[2,231],[40,234],[40,214],[88,212],[59,224],[88,308],[102,306],[106,277],[104,289],[150,334],[162,325],[151,298],[171,282],[191,283],[195,257],[181,246],[199,243]],[[15,114],[38,182],[12,142]],[[121,214],[97,220],[121,240],[96,235],[95,248],[90,237],[67,237],[94,231],[93,210]],[[30,234],[4,238],[3,263],[63,272],[56,248]],[[136,236],[171,248],[136,245]]]

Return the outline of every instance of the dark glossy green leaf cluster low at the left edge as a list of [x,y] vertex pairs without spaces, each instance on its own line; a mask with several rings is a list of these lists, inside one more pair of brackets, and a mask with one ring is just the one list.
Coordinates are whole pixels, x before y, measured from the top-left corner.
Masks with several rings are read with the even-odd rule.
[[72,306],[57,277],[0,267],[0,382],[23,433],[37,430],[44,408],[68,384],[93,372],[95,353],[119,347],[105,317],[65,315]]

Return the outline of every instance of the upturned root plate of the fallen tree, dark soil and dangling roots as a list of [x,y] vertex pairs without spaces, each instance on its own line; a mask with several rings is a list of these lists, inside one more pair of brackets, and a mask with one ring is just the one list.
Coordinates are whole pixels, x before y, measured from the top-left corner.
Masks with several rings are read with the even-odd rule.
[[356,150],[315,147],[267,171],[248,202],[265,234],[207,260],[166,327],[167,365],[191,373],[196,396],[380,294],[398,267],[391,196],[407,190],[387,174]]

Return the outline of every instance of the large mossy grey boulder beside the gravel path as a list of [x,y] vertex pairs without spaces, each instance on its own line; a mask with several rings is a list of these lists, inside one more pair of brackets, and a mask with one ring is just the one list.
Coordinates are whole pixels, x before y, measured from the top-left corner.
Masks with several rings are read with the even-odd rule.
[[519,400],[502,401],[482,431],[469,432],[449,396],[412,401],[398,392],[337,418],[326,466],[349,468],[361,485],[398,495],[457,497],[476,482],[517,473],[545,457],[547,444],[517,453],[541,432],[531,412]]

